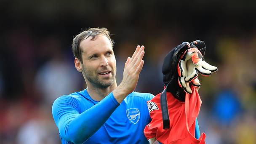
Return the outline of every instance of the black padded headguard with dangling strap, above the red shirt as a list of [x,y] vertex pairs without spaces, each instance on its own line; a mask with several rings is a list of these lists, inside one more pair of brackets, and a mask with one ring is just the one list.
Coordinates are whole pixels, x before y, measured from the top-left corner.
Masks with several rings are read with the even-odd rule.
[[[161,107],[162,107],[162,113],[163,113],[163,124],[164,129],[169,128],[169,114],[168,114],[168,107],[167,107],[167,99],[166,99],[166,92],[172,93],[172,96],[174,96],[179,101],[185,101],[185,92],[186,93],[192,93],[190,84],[187,83],[187,88],[181,86],[181,77],[185,79],[187,75],[183,74],[186,66],[182,68],[180,66],[182,59],[186,59],[187,51],[189,51],[190,46],[197,46],[200,48],[200,51],[202,53],[205,53],[205,43],[203,41],[197,40],[192,43],[183,42],[180,45],[173,48],[172,51],[170,51],[163,61],[163,82],[165,84],[165,89],[163,90],[161,94]],[[187,65],[187,64],[185,64]],[[183,75],[182,75],[183,74]],[[197,74],[198,75],[198,74]],[[179,84],[179,85],[178,85]],[[192,79],[191,85],[200,87],[199,80],[194,77]],[[188,91],[190,90],[190,91]]]

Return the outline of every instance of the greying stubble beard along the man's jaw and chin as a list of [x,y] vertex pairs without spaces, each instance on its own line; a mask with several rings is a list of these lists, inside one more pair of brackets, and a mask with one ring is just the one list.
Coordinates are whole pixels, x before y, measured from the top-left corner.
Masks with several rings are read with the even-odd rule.
[[115,74],[113,69],[111,69],[112,77],[109,79],[100,79],[98,75],[93,76],[93,73],[86,70],[85,67],[83,67],[82,73],[84,77],[96,88],[107,88],[115,83]]

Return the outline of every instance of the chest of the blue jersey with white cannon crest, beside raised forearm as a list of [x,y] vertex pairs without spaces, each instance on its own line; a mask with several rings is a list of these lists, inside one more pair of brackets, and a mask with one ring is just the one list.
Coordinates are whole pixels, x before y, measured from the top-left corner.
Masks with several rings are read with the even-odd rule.
[[[107,109],[107,108],[106,108]],[[104,111],[103,111],[104,112]],[[122,103],[87,142],[141,143],[146,141],[144,128],[149,123],[147,104]],[[97,143],[96,142],[96,143]]]

